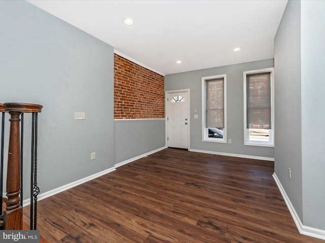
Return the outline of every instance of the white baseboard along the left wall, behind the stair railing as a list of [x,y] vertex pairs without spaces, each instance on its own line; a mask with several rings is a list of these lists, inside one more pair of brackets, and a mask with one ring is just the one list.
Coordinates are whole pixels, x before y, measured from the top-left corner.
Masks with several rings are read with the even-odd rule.
[[[112,171],[115,171],[115,170],[116,170],[115,168],[109,168],[109,169],[107,169],[105,171],[101,171],[101,172],[96,173],[96,174],[93,174],[91,176],[87,176],[87,177],[82,178],[80,180],[71,182],[71,183],[69,183],[67,185],[63,185],[63,186],[54,188],[54,189],[52,189],[50,191],[47,191],[47,192],[44,192],[44,193],[39,194],[38,197],[37,197],[37,200],[40,201],[40,200],[45,199],[47,197],[53,196],[53,195],[55,195],[57,193],[60,193],[60,192],[65,191],[65,190],[68,190],[68,189],[70,189],[72,187],[78,186],[78,185],[80,185],[82,183],[85,183],[87,181],[93,180],[93,179],[95,179],[97,177],[106,175],[106,174],[108,174],[108,173],[110,173]],[[23,202],[22,202],[22,205],[23,205],[23,207],[30,205],[30,198],[24,199]]]

